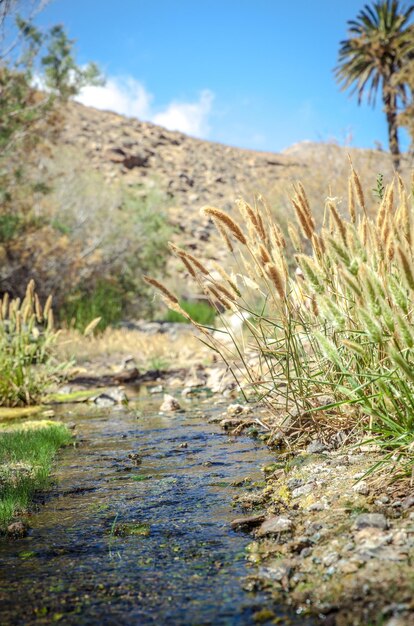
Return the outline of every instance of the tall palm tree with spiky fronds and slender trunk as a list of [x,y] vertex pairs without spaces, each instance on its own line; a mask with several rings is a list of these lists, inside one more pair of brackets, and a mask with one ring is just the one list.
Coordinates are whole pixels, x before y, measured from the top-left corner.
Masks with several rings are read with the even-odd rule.
[[349,20],[349,39],[341,41],[337,80],[342,89],[352,86],[358,104],[365,93],[375,105],[378,89],[388,125],[388,141],[395,168],[400,165],[398,105],[405,101],[405,84],[397,73],[414,50],[414,27],[409,24],[414,4],[400,6],[399,0],[382,0],[365,5],[355,20]]

